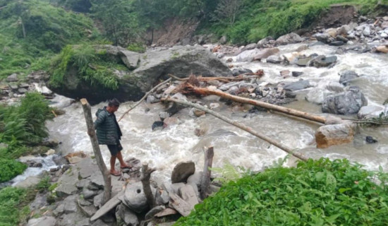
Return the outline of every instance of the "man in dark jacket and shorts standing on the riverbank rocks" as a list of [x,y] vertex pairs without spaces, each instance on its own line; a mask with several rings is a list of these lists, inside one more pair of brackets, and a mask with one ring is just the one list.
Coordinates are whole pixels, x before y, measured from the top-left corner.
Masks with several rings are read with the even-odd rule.
[[98,109],[96,112],[97,119],[95,121],[95,129],[97,129],[97,140],[100,145],[107,145],[109,152],[111,153],[111,174],[114,176],[120,176],[121,172],[114,169],[116,158],[119,159],[121,169],[131,169],[131,166],[126,165],[123,161],[123,155],[121,155],[120,139],[123,134],[116,120],[114,112],[119,109],[120,102],[116,98],[108,102],[108,106],[103,109]]

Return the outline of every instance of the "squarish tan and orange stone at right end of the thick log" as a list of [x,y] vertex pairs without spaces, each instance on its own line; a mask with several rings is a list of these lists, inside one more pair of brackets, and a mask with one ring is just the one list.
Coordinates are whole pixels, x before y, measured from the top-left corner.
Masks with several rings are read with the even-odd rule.
[[354,138],[355,125],[351,122],[320,126],[315,132],[317,148],[327,148],[331,145],[350,143]]

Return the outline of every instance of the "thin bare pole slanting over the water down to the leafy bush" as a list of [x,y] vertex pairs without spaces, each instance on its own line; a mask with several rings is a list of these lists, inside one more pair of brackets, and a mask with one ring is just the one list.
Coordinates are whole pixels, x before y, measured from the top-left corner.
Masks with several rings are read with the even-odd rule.
[[197,105],[197,104],[193,104],[192,102],[187,102],[187,101],[184,101],[184,100],[178,100],[178,99],[174,99],[174,98],[171,98],[171,97],[167,97],[167,98],[164,98],[162,99],[164,101],[171,101],[171,102],[176,102],[178,104],[181,104],[181,105],[186,105],[186,106],[190,106],[190,107],[195,107],[197,109],[200,109],[201,111],[203,112],[207,112],[209,114],[212,114],[214,117],[217,117],[219,119],[221,119],[222,121],[226,121],[227,123],[229,124],[232,124],[240,129],[243,129],[244,131],[247,131],[248,133],[252,134],[253,136],[257,136],[258,138],[264,140],[264,141],[267,141],[268,143],[271,143],[272,145],[276,146],[277,148],[280,148],[281,150],[284,150],[286,153],[289,153],[295,157],[297,157],[298,159],[300,160],[303,160],[303,161],[307,161],[308,158],[307,157],[304,157],[303,155],[299,154],[299,153],[295,153],[291,148],[288,148],[286,147],[285,145],[282,145],[281,143],[277,142],[277,141],[274,141],[272,138],[269,138],[265,135],[262,135],[260,133],[257,133],[256,131],[253,131],[252,128],[248,127],[248,126],[245,126],[244,124],[241,124],[237,121],[233,121],[227,117],[224,117],[223,115],[221,114],[218,114],[217,112],[214,112],[206,107],[203,107],[201,105]]

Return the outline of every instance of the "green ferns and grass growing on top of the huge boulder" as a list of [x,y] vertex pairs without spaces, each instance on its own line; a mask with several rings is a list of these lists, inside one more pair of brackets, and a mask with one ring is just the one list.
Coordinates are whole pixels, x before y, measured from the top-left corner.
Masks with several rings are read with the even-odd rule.
[[66,46],[58,54],[51,65],[50,85],[60,87],[63,85],[64,76],[68,68],[73,66],[77,69],[76,76],[87,81],[90,85],[99,85],[102,88],[116,90],[119,81],[114,76],[113,70],[128,70],[125,66],[105,59],[107,53],[97,52],[91,45]]

